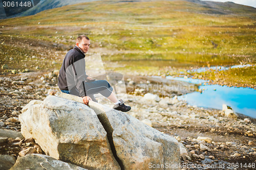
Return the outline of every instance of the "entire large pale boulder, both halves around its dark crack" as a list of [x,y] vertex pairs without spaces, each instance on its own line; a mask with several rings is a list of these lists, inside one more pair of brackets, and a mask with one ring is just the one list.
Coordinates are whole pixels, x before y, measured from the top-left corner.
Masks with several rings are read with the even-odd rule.
[[48,155],[88,169],[180,169],[175,138],[129,114],[59,96],[50,95],[19,115],[22,134]]

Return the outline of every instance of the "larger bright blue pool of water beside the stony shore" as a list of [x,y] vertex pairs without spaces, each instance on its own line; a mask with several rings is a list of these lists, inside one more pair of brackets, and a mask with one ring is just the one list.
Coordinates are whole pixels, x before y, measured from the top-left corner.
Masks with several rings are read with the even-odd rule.
[[237,113],[256,118],[256,90],[220,85],[203,85],[199,89],[202,93],[193,92],[178,99],[185,99],[190,105],[215,109],[222,109],[222,104],[226,104]]

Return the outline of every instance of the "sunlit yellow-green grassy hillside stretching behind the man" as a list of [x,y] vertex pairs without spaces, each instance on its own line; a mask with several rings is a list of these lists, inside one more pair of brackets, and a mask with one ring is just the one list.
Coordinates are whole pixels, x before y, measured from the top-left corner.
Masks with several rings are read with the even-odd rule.
[[[233,3],[98,1],[2,19],[0,26],[0,64],[9,66],[0,68],[3,74],[59,69],[80,34],[91,38],[90,54],[100,53],[107,70],[126,74],[179,75],[191,67],[256,63],[256,9]],[[256,87],[255,67],[203,76],[223,75],[231,84]]]

